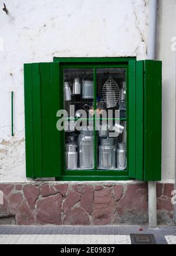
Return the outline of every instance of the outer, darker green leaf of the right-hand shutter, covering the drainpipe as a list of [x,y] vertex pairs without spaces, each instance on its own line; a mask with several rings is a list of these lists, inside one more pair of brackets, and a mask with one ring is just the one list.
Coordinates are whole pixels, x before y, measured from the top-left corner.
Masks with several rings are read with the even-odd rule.
[[161,180],[161,61],[144,61],[144,71],[144,180]]

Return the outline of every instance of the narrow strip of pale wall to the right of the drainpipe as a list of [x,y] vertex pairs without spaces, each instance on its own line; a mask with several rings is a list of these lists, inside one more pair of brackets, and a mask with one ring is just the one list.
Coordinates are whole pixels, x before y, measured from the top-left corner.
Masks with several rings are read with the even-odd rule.
[[176,1],[159,2],[156,58],[163,61],[162,178],[167,180],[175,179]]

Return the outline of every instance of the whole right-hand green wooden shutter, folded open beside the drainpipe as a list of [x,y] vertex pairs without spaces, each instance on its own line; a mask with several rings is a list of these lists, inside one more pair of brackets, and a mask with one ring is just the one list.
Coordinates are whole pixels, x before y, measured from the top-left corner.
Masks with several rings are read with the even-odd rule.
[[131,178],[161,180],[162,63],[136,62],[136,173]]

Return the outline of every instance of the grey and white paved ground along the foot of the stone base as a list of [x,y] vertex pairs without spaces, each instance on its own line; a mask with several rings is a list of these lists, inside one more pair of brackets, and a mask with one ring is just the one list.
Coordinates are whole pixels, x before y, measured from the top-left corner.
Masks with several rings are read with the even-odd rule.
[[176,227],[1,225],[0,244],[130,244],[130,234],[153,234],[157,244],[176,242]]

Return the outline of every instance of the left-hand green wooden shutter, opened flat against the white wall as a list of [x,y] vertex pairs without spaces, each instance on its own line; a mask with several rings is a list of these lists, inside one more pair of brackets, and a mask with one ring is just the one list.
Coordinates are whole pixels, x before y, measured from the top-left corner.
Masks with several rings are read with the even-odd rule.
[[59,63],[24,65],[26,176],[51,178],[61,175],[60,132],[56,113],[59,97]]

